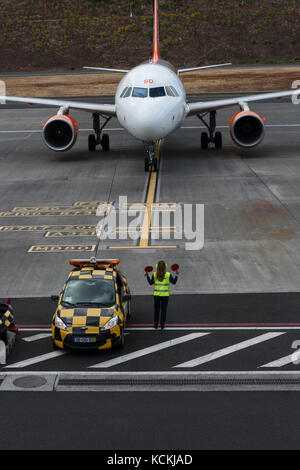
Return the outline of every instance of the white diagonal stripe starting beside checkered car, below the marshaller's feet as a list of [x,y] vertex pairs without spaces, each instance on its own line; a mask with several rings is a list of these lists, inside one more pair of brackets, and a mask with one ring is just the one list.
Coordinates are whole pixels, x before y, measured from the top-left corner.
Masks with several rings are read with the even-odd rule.
[[193,339],[200,338],[201,336],[206,336],[209,334],[210,333],[190,333],[188,335],[180,336],[179,338],[171,339],[170,341],[164,341],[163,343],[158,343],[154,346],[149,346],[148,348],[139,349],[138,351],[134,351],[130,354],[125,354],[124,356],[116,357],[115,359],[111,359],[109,361],[100,362],[93,366],[89,366],[89,368],[107,369],[108,367],[113,367],[117,364],[122,364],[123,362],[132,361],[133,359],[137,359],[138,357],[146,356],[147,354],[151,354],[162,349],[170,348],[172,346],[176,346],[177,344],[185,343],[187,341],[191,341]]

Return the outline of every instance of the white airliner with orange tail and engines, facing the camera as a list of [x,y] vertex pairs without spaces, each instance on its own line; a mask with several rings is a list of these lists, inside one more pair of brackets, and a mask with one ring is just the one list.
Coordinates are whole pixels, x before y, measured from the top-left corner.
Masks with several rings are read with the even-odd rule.
[[[2,102],[14,101],[28,104],[53,105],[59,108],[56,115],[43,123],[43,140],[47,147],[55,151],[69,150],[76,142],[78,123],[71,117],[70,110],[76,109],[92,113],[94,134],[88,138],[88,147],[94,151],[101,145],[109,150],[109,136],[103,130],[112,117],[117,117],[120,125],[132,136],[147,146],[145,170],[157,170],[155,143],[181,127],[189,116],[197,116],[207,127],[201,133],[201,147],[209,143],[216,148],[222,147],[222,134],[216,132],[216,111],[221,108],[237,106],[238,111],[230,120],[230,135],[241,147],[254,147],[264,137],[264,118],[251,111],[249,103],[265,99],[281,98],[299,94],[299,90],[264,93],[214,101],[188,103],[180,74],[219,64],[176,70],[173,65],[160,59],[158,0],[154,0],[153,56],[132,70],[85,67],[93,70],[124,73],[115,95],[115,104],[92,104],[61,99],[24,98],[0,96]],[[208,119],[206,120],[206,116]],[[101,125],[100,118],[103,119]]]

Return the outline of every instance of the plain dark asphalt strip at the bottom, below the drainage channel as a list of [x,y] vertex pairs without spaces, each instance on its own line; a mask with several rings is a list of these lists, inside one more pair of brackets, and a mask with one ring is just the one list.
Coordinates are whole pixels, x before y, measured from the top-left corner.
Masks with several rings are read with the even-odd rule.
[[2,392],[0,413],[1,450],[299,449],[293,392]]

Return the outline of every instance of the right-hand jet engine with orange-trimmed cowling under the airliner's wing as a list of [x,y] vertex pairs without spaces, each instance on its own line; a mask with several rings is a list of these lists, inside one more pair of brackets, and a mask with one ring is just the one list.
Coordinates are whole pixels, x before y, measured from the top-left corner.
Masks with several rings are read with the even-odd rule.
[[255,147],[265,135],[264,121],[254,111],[239,111],[230,119],[230,136],[240,147]]

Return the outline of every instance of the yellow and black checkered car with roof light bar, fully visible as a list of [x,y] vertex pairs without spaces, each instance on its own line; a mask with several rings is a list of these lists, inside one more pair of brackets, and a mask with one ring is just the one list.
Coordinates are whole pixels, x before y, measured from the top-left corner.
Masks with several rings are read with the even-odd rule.
[[52,319],[55,348],[110,349],[124,346],[130,290],[120,260],[70,260],[74,267]]

